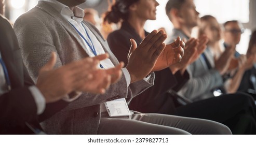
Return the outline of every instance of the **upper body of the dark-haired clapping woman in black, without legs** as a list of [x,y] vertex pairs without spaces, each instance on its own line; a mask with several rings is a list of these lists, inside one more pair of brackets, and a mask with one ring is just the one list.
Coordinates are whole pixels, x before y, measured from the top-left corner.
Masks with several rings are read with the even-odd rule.
[[[143,27],[146,20],[156,19],[156,7],[158,5],[159,4],[154,0],[119,0],[112,6],[111,11],[106,12],[104,18],[105,22],[118,23],[122,21],[120,30],[111,33],[107,41],[117,59],[119,61],[122,60],[125,65],[127,64],[127,54],[130,49],[129,39],[134,39],[137,45],[139,45],[142,39],[149,34]],[[172,114],[175,111],[173,99],[169,96],[167,91],[170,88],[178,91],[188,79],[188,74],[185,69],[183,69],[183,71],[178,70],[181,67],[185,68],[189,61],[191,61],[190,57],[196,53],[195,46],[198,45],[198,40],[192,39],[189,42],[193,44],[191,45],[192,48],[187,49],[190,54],[187,55],[185,51],[180,63],[173,65],[172,68],[156,71],[155,84],[157,85],[147,89],[139,97],[133,98],[129,104],[131,109],[141,112],[157,112],[164,114]]]

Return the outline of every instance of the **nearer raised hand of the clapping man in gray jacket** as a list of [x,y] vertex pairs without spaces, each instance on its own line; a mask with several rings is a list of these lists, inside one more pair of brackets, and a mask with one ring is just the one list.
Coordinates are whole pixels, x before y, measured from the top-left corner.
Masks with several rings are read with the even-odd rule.
[[151,32],[137,47],[136,42],[131,39],[131,48],[128,54],[126,66],[131,76],[131,83],[143,79],[152,72],[159,55],[165,49],[163,44],[166,39],[163,31]]

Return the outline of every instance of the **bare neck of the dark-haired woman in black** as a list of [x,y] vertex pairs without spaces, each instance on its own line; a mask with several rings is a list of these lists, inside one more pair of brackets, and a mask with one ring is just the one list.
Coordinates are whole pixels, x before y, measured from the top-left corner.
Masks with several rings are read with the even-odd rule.
[[139,34],[139,36],[144,39],[145,38],[145,32],[144,32],[144,25],[145,20],[141,20],[138,17],[130,17],[128,19],[128,23],[134,28],[134,30]]

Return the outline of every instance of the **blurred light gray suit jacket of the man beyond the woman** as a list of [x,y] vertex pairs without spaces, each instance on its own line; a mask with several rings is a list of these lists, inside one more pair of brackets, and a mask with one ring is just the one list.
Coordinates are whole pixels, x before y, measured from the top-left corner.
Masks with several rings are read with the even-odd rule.
[[[180,36],[181,39],[189,39],[181,30],[173,29],[171,39],[176,39]],[[204,52],[208,60],[213,60],[210,50]],[[213,68],[214,62],[210,62]],[[212,89],[223,85],[222,76],[216,69],[208,69],[207,64],[202,56],[194,63],[187,67],[187,72],[190,74],[190,79],[178,92],[193,101],[212,97]]]

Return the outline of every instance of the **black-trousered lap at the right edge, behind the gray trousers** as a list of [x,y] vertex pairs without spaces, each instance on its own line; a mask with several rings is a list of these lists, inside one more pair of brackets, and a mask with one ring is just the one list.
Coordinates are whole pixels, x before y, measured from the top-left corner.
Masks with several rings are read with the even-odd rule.
[[[174,115],[209,119],[224,123],[240,112],[248,112],[255,117],[255,104],[245,93],[227,94],[178,107]],[[218,114],[218,115],[217,115]]]

